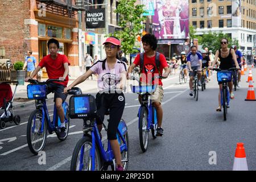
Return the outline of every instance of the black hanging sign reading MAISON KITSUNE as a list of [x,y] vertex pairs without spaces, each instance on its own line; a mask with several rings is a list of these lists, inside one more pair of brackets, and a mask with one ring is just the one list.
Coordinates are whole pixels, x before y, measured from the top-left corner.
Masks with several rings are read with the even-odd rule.
[[85,21],[86,28],[105,28],[105,8],[86,11]]

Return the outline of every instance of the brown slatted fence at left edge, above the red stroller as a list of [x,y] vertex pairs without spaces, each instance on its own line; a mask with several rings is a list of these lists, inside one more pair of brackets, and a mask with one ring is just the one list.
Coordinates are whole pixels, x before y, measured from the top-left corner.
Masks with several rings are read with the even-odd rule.
[[0,81],[16,80],[16,71],[13,64],[0,63]]

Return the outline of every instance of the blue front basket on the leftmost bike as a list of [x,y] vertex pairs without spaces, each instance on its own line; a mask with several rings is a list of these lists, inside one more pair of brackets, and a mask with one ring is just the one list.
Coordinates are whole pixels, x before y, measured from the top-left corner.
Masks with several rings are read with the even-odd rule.
[[27,85],[28,99],[45,99],[47,98],[47,85]]

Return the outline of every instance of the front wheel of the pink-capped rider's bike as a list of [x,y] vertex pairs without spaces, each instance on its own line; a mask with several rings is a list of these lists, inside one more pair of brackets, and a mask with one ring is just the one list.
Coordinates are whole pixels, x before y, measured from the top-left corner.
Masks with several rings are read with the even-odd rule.
[[[100,171],[101,157],[98,146],[95,146],[95,158],[92,158],[92,138],[83,137],[77,142],[71,159],[71,171]],[[94,160],[94,167],[92,161]]]

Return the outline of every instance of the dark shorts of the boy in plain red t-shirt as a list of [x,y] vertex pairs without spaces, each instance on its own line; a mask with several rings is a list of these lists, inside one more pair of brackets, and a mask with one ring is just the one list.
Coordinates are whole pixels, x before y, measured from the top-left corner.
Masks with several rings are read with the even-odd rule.
[[64,85],[57,84],[55,82],[50,82],[47,87],[47,94],[53,92],[54,93],[54,102],[56,98],[61,98],[62,102],[64,102],[68,96],[68,94],[64,94]]

